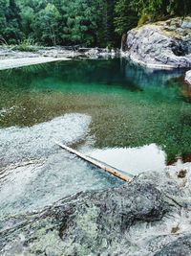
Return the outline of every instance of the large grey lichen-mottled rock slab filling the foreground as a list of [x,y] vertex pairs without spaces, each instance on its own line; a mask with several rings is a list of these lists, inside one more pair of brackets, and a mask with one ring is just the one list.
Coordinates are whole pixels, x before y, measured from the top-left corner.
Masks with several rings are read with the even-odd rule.
[[1,255],[191,255],[189,164],[1,221]]

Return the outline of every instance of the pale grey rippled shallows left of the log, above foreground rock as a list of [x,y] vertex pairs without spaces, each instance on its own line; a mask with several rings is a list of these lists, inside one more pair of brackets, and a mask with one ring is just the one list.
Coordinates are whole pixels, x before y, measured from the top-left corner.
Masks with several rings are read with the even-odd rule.
[[0,219],[80,191],[122,184],[56,145],[84,140],[90,123],[90,116],[74,113],[30,128],[0,129]]

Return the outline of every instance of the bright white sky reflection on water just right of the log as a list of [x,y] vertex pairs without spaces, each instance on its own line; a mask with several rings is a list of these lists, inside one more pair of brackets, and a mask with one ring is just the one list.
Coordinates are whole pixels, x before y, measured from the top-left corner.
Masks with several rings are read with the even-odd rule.
[[166,166],[166,154],[156,144],[138,148],[93,150],[87,154],[132,175],[161,171]]

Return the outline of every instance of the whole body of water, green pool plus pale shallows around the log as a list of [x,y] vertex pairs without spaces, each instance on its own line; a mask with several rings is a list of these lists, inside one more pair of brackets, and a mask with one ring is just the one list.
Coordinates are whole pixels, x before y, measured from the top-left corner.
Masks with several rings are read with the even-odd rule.
[[190,153],[190,88],[178,80],[183,73],[144,70],[125,59],[0,71],[2,214],[121,184],[59,149],[55,139],[132,174],[160,170]]

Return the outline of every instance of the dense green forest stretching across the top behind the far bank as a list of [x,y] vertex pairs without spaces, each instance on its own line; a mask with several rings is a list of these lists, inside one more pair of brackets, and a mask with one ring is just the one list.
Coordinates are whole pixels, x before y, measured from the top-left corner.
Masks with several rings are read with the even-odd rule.
[[0,0],[0,43],[119,46],[146,22],[185,16],[190,0]]

